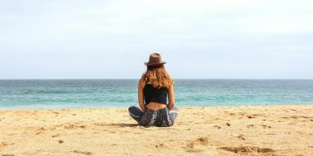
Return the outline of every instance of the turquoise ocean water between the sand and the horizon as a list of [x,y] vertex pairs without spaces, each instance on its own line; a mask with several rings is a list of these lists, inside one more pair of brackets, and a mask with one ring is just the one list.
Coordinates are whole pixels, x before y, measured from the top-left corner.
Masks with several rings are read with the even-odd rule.
[[[0,80],[0,108],[137,105],[138,79]],[[177,106],[313,104],[313,79],[176,79]]]

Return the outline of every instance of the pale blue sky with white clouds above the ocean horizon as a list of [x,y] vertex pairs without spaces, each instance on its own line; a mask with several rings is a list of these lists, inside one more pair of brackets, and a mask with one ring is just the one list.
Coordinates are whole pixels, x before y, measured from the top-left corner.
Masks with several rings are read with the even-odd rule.
[[312,1],[1,1],[0,79],[313,79]]

